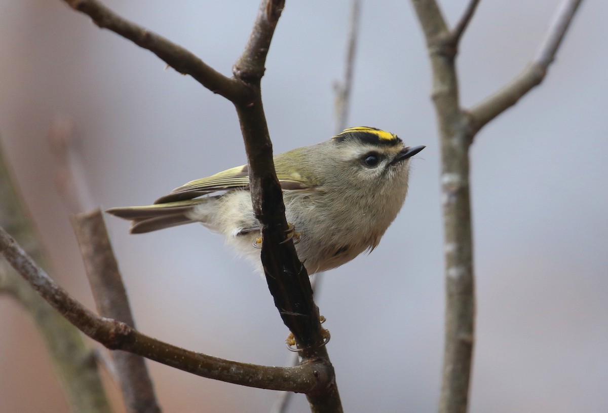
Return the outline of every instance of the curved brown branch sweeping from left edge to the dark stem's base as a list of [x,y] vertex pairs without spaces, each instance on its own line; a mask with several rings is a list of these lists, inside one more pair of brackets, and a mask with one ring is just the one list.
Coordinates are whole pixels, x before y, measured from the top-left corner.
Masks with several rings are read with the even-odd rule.
[[123,350],[202,377],[261,389],[314,393],[328,387],[333,369],[325,363],[267,367],[195,353],[143,335],[123,322],[99,317],[69,296],[0,227],[0,254],[80,331],[111,350]]

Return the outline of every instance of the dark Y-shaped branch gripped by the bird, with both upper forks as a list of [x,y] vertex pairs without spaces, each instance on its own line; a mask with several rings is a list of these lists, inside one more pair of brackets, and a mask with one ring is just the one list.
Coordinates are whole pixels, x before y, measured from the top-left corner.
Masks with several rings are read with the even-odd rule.
[[[234,78],[224,77],[187,50],[119,18],[95,0],[63,1],[91,16],[98,26],[113,30],[139,46],[153,51],[179,72],[192,75],[202,85],[234,103],[247,151],[250,193],[255,217],[260,221],[263,237],[261,261],[269,290],[283,322],[292,331],[297,345],[302,349],[300,355],[303,364],[322,365],[323,373],[328,373],[326,376],[328,380],[322,380],[325,382],[323,383],[325,387],[312,386],[308,391],[293,389],[291,391],[316,392],[314,395],[308,395],[313,412],[342,411],[333,378],[333,368],[323,346],[319,309],[314,304],[308,274],[295,254],[293,242],[286,238],[288,225],[285,220],[285,205],[274,169],[272,143],[261,100],[260,83],[264,74],[264,64],[284,1],[261,1],[254,28],[243,54],[233,66]],[[135,333],[134,330],[129,331],[130,335]],[[292,369],[301,367],[303,366]],[[286,371],[278,370],[277,374],[285,374]],[[243,381],[249,379],[243,380],[241,377],[231,378],[228,381],[231,380],[246,384]],[[289,386],[282,382],[281,387],[287,389]]]

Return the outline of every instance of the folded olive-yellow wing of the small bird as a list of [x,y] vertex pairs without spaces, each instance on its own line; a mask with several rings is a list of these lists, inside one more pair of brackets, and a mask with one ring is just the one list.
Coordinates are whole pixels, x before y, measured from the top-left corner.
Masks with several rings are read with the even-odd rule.
[[[299,177],[278,173],[277,178],[283,190],[305,190],[311,187]],[[247,165],[230,168],[215,175],[207,176],[207,178],[190,181],[172,190],[168,195],[161,196],[154,201],[154,204],[192,200],[197,196],[229,189],[249,189],[249,167]]]

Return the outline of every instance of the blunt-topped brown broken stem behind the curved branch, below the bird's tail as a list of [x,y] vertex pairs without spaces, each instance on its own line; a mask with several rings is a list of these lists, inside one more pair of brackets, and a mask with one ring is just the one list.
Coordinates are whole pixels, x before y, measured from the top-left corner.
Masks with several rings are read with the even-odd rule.
[[[102,317],[135,327],[118,263],[112,252],[102,212],[94,210],[71,218],[72,226],[85,262],[91,290]],[[154,386],[142,356],[112,352],[125,406],[132,413],[155,413],[161,409]]]

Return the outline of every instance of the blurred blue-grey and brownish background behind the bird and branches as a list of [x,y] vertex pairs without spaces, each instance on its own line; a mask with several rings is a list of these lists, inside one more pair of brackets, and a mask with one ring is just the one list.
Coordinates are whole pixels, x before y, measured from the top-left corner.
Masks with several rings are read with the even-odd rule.
[[[257,1],[105,4],[230,74]],[[276,153],[333,134],[346,0],[286,3],[263,79]],[[557,1],[482,1],[461,46],[471,106],[533,57]],[[465,1],[443,1],[454,23]],[[482,130],[471,150],[477,342],[471,412],[608,411],[608,4],[587,0],[547,79]],[[229,102],[63,2],[0,2],[0,137],[52,254],[53,276],[94,308],[54,186],[48,130],[75,124],[82,178],[103,208],[147,204],[243,164]],[[364,2],[349,124],[427,145],[406,205],[369,256],[326,274],[317,297],[345,411],[437,409],[443,349],[438,141],[429,63],[407,1]],[[283,365],[282,324],[263,278],[197,225],[129,235],[107,223],[137,325],[224,358]],[[64,412],[27,314],[0,297],[2,412]],[[149,363],[166,412],[267,412],[270,390]],[[116,386],[109,384],[112,392]],[[119,407],[120,409],[120,407]],[[297,395],[290,412],[308,411]]]

